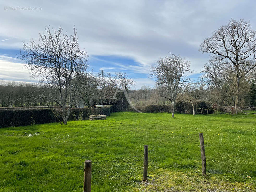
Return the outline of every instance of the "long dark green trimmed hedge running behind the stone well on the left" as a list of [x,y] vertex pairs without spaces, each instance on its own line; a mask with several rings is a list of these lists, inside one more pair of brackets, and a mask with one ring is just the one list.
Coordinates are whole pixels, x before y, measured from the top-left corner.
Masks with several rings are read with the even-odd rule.
[[[60,120],[62,120],[61,109],[53,109]],[[94,109],[96,114],[100,114],[100,109]],[[102,113],[109,116],[114,110],[113,105],[103,105]],[[92,115],[92,108],[71,108],[68,121],[80,121],[89,119]],[[30,109],[0,109],[0,127],[18,127],[34,124],[44,124],[57,122],[57,118],[49,108]]]

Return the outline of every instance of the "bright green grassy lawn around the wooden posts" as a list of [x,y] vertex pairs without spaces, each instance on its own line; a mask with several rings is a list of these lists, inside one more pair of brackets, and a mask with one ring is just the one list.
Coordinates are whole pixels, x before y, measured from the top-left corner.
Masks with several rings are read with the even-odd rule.
[[175,116],[118,112],[103,121],[2,128],[0,191],[82,191],[86,159],[93,192],[256,191],[256,114]]

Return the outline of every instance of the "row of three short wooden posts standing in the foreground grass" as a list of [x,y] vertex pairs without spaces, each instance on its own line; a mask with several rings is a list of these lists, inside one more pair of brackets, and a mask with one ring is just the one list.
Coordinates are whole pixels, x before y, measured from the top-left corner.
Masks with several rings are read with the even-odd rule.
[[[200,148],[201,148],[202,174],[206,175],[205,144],[204,144],[203,133],[199,133],[199,141],[200,141]],[[147,168],[148,168],[148,145],[144,145],[143,181],[147,180]],[[92,184],[92,161],[86,160],[84,162],[83,192],[91,192],[91,184]]]

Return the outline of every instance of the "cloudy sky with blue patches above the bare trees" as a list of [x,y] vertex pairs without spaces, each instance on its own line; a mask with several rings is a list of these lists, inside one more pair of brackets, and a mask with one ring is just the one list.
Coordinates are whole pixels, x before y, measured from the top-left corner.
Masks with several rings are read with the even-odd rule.
[[38,40],[45,26],[77,28],[80,48],[90,55],[90,67],[126,72],[140,88],[153,87],[147,78],[156,59],[171,51],[188,57],[200,76],[208,55],[201,42],[231,18],[250,20],[256,29],[256,2],[251,1],[1,1],[0,79],[33,82],[23,61],[15,58],[23,41]]

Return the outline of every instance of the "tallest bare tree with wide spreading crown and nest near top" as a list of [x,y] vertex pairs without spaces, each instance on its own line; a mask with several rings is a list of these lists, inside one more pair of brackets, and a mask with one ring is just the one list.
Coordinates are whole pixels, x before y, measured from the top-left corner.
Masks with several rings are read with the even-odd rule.
[[237,105],[240,79],[256,67],[256,31],[251,28],[249,21],[231,19],[212,37],[205,39],[199,51],[211,53],[211,62],[232,67],[232,72],[236,74]]

